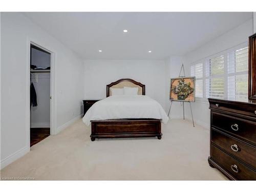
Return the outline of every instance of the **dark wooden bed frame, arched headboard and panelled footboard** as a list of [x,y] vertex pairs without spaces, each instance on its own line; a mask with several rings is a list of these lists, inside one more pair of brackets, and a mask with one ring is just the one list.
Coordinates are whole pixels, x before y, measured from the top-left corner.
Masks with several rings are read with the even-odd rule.
[[[131,87],[139,87],[139,93],[145,95],[145,85],[133,79],[119,79],[106,86],[106,97],[111,95],[110,88],[132,83]],[[157,137],[162,138],[162,119],[107,119],[91,120],[91,140],[95,138],[127,138],[127,137]]]

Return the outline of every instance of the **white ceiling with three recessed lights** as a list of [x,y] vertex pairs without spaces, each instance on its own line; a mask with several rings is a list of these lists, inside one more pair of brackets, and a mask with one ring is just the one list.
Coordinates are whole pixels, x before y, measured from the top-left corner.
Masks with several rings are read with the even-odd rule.
[[[25,14],[84,59],[164,59],[184,55],[252,18],[252,12]],[[124,29],[128,32],[123,33]]]

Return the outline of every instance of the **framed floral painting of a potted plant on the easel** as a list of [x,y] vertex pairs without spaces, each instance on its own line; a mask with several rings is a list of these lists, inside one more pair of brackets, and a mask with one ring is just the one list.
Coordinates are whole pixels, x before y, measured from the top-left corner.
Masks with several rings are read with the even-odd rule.
[[170,79],[170,99],[173,101],[195,102],[195,77]]

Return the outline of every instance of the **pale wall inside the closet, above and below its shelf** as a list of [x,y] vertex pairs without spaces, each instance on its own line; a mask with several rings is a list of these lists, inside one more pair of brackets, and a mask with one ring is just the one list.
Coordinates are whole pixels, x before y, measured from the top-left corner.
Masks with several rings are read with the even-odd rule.
[[[31,65],[41,68],[51,66],[51,55],[37,49],[31,50]],[[30,127],[50,127],[50,73],[33,73],[37,106],[31,106]]]

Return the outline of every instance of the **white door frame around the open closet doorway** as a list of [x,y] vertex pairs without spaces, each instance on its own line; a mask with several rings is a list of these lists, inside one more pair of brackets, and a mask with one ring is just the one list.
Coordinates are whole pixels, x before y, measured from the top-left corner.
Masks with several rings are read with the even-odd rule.
[[27,146],[30,147],[30,45],[34,45],[39,47],[42,50],[45,50],[51,53],[51,75],[50,75],[50,135],[56,134],[56,99],[55,99],[55,56],[56,53],[48,49],[47,46],[44,45],[43,42],[37,41],[32,38],[27,38]]

